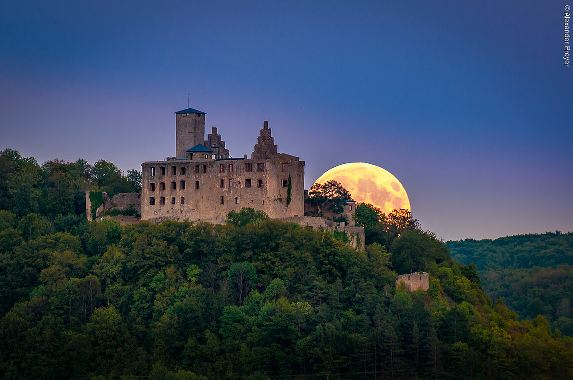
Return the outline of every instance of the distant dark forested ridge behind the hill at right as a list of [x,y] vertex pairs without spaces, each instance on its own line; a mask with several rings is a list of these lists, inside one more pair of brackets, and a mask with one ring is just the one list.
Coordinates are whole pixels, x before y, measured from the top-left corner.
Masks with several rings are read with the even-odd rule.
[[521,318],[547,318],[573,336],[573,233],[506,236],[446,242],[452,257],[473,262],[484,290]]

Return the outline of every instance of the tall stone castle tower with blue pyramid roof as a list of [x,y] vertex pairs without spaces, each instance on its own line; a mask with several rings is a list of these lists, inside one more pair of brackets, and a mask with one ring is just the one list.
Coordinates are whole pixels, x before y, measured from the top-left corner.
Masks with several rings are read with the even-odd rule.
[[175,112],[175,158],[186,159],[187,149],[205,142],[205,114],[194,108]]

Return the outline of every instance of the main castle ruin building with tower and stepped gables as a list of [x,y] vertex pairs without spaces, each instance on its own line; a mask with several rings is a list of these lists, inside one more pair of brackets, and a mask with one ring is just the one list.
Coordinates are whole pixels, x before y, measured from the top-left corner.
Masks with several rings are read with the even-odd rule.
[[252,207],[269,217],[304,215],[304,161],[278,153],[264,122],[250,158],[233,158],[217,128],[205,139],[205,112],[175,112],[175,157],[142,164],[142,219],[225,223]]

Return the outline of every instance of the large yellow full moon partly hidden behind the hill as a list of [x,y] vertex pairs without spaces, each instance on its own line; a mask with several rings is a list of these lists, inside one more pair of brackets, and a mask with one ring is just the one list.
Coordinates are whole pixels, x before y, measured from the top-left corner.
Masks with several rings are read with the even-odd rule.
[[315,183],[329,180],[339,181],[356,202],[370,203],[379,207],[383,213],[393,209],[410,209],[410,200],[400,181],[392,173],[376,165],[338,165],[321,175]]

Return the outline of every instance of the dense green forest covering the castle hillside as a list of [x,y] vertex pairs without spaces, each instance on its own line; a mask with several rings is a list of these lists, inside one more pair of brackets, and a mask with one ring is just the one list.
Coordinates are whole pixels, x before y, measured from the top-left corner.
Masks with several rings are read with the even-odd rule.
[[[5,152],[10,185],[32,160]],[[7,196],[27,188],[37,203],[0,210],[2,378],[573,378],[573,338],[492,303],[476,267],[405,210],[359,205],[362,252],[252,209],[122,227],[58,213],[48,197],[66,192],[31,165],[37,181]],[[414,271],[429,291],[395,286]]]

